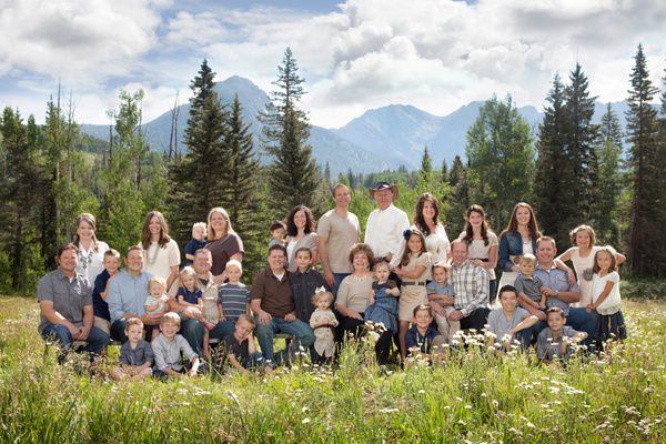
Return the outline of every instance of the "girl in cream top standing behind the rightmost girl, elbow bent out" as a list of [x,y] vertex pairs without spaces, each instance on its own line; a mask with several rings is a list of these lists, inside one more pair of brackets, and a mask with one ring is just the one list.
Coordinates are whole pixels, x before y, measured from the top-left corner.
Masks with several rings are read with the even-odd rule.
[[[585,307],[592,303],[592,276],[594,266],[594,255],[599,249],[595,245],[595,232],[589,225],[579,225],[569,232],[572,246],[557,260],[562,262],[572,261],[576,271],[576,279],[581,287],[581,300],[575,306]],[[615,263],[619,265],[626,261],[624,254],[615,253]]]

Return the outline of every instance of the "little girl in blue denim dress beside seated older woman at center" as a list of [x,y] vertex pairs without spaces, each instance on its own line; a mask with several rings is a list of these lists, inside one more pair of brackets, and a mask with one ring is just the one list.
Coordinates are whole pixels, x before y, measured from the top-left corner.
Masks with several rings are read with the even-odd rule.
[[383,324],[385,331],[380,334],[375,344],[377,363],[385,365],[389,363],[391,354],[391,343],[393,335],[397,333],[397,297],[400,289],[394,281],[389,280],[391,270],[385,261],[377,262],[374,266],[377,280],[372,283],[374,295],[370,299],[370,306],[365,310],[365,322]]

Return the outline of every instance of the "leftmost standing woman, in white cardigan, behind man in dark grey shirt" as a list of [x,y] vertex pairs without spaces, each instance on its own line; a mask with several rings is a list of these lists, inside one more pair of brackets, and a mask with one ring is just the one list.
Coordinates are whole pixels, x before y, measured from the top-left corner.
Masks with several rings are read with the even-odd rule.
[[90,213],[81,213],[77,218],[77,232],[73,244],[79,249],[79,263],[77,273],[85,276],[90,285],[94,284],[94,279],[104,270],[104,253],[109,250],[105,242],[98,241],[94,232],[97,231],[97,221]]

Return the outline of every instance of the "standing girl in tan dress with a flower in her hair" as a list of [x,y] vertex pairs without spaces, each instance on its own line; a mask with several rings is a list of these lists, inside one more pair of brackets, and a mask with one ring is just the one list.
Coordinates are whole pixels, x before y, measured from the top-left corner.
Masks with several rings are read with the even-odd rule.
[[394,270],[402,279],[400,291],[400,353],[404,359],[407,355],[405,334],[410,322],[414,319],[414,307],[427,305],[427,291],[425,281],[431,266],[431,254],[425,251],[425,238],[418,230],[405,230],[403,236],[407,248],[403,252],[400,266]]

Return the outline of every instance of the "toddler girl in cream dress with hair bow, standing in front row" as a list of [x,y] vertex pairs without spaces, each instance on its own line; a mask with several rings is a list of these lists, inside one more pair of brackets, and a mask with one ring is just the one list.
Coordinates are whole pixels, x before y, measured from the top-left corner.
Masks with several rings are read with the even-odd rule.
[[323,286],[316,289],[312,296],[312,304],[316,309],[310,316],[310,326],[314,330],[314,350],[320,364],[330,361],[335,354],[333,329],[337,326],[337,320],[331,310],[333,300],[333,293]]

